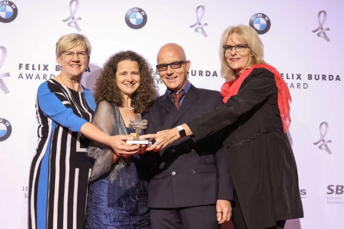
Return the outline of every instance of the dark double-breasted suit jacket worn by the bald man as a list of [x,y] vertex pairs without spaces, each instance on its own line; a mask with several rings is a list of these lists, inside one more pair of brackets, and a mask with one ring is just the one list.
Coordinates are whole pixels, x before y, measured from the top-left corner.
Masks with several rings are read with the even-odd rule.
[[[145,133],[173,128],[221,104],[219,92],[191,85],[177,110],[166,92],[143,115],[148,120]],[[149,207],[189,207],[214,204],[217,199],[233,199],[225,152],[215,138],[197,144],[190,137],[182,138],[159,153],[149,152],[145,156],[153,162]]]

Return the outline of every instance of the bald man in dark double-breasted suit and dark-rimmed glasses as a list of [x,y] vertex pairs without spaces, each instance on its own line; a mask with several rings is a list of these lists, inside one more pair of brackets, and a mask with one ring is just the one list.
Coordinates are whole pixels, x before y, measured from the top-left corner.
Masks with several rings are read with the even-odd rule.
[[[145,133],[179,126],[222,104],[218,91],[189,82],[190,61],[178,44],[162,46],[157,62],[167,90],[144,114]],[[185,132],[178,128],[182,136]],[[224,150],[215,138],[197,144],[190,137],[182,138],[148,155],[154,163],[148,188],[152,229],[219,229],[230,220],[233,184]]]

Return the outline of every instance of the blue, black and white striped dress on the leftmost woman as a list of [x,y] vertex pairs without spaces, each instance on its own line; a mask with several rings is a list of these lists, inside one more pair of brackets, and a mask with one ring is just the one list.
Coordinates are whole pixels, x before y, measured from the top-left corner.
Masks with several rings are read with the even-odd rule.
[[83,229],[91,161],[80,134],[95,110],[92,93],[54,79],[38,88],[36,155],[29,180],[29,229]]

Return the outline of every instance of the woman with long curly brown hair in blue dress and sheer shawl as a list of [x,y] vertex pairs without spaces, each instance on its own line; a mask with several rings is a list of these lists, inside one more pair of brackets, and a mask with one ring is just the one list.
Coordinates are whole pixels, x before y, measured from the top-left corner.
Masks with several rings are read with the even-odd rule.
[[[116,53],[105,63],[94,97],[94,125],[108,135],[132,133],[129,121],[135,119],[136,113],[147,112],[157,97],[152,69],[135,52]],[[121,157],[96,142],[90,144],[87,153],[94,158],[94,164],[89,179],[86,228],[150,228],[147,174],[140,156]]]

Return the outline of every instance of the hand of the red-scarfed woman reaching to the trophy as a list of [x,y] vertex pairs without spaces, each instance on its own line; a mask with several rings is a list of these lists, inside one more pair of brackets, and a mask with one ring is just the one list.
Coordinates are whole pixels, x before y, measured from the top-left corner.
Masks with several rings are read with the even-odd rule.
[[180,135],[177,128],[172,128],[169,130],[159,131],[156,134],[141,135],[140,138],[149,138],[150,141],[155,139],[155,143],[152,146],[147,147],[146,150],[158,152],[172,144],[175,140],[178,140]]

